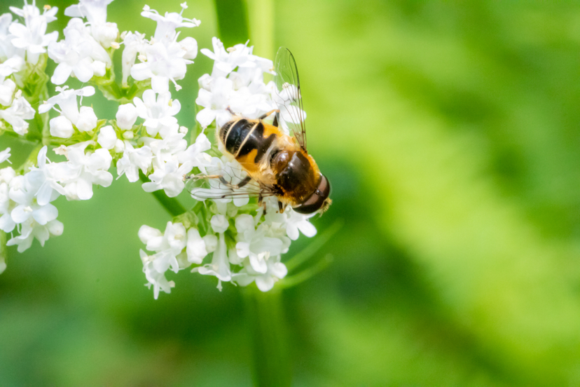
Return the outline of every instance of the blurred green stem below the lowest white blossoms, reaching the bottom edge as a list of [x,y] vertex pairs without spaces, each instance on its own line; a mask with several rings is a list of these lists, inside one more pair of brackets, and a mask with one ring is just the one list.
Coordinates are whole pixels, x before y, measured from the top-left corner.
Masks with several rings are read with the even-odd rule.
[[261,292],[257,287],[249,286],[244,289],[244,296],[256,386],[290,386],[292,374],[282,292],[276,287],[269,292]]

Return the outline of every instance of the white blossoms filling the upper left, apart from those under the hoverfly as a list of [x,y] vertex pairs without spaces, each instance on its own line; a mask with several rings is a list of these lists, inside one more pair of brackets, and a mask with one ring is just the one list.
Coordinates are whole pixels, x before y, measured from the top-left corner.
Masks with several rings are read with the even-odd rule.
[[[62,85],[69,76],[89,81],[93,76],[103,76],[106,69],[111,67],[111,48],[119,47],[116,43],[116,24],[106,22],[106,6],[111,1],[81,0],[79,4],[70,6],[65,14],[75,18],[69,20],[64,29],[64,40],[56,41],[57,32],[50,34],[50,39],[27,35],[29,40],[46,43],[40,48],[24,46],[20,41],[13,43],[17,37],[23,39],[21,35],[24,32],[12,36],[7,35],[8,30],[18,32],[25,26],[13,27],[18,23],[11,22],[9,14],[0,18],[0,55],[14,54],[0,57],[0,104],[7,107],[0,110],[0,117],[10,123],[17,133],[20,130],[20,134],[25,134],[28,128],[22,118],[31,119],[35,114],[15,83],[18,82],[15,72],[25,66],[25,58],[31,57],[29,53],[46,53],[44,47],[48,46],[46,55],[58,64],[51,78],[57,85]],[[182,4],[182,8],[186,8],[186,4]],[[25,18],[26,26],[32,29],[29,35],[38,32],[39,23],[40,29],[45,32],[46,22],[55,20],[57,11],[57,8],[50,8],[50,11],[40,15],[38,8],[28,4],[23,10],[11,9]],[[152,38],[149,42],[151,46],[157,45],[154,48],[157,50],[172,47],[177,39],[177,27],[199,24],[197,20],[185,20],[177,13],[166,14],[163,18],[148,7],[142,15],[158,22],[156,36],[159,35],[159,39]],[[83,22],[81,18],[86,18],[88,22]],[[157,78],[153,83],[162,84],[164,75],[166,83],[170,79],[183,78],[185,64],[191,61],[182,58],[195,57],[197,43],[193,38],[186,38],[180,43],[186,46],[179,46],[178,54],[183,64],[183,68],[177,64],[180,74],[172,72],[176,61],[170,57],[168,60],[172,62],[172,67],[164,69],[156,65],[154,75]],[[125,46],[125,51],[131,49]],[[148,48],[141,52],[150,51]],[[153,62],[151,60],[149,64]],[[139,70],[139,64],[134,67]],[[169,71],[167,74],[166,70]],[[198,155],[209,149],[210,144],[205,135],[200,135],[198,141],[188,147],[184,139],[187,129],[180,127],[174,118],[181,109],[179,101],[172,100],[168,85],[162,89],[165,91],[160,93],[145,90],[142,97],[134,97],[133,104],[120,105],[116,120],[112,120],[111,125],[104,125],[106,120],[99,121],[92,107],[80,106],[83,98],[95,94],[94,87],[74,90],[68,86],[57,86],[57,95],[40,104],[39,114],[47,114],[51,109],[59,113],[50,119],[50,136],[54,140],[52,143],[61,144],[53,149],[55,154],[65,156],[67,160],[50,162],[47,158],[48,147],[45,146],[39,150],[36,166],[29,170],[18,171],[8,167],[0,171],[0,230],[12,233],[8,245],[18,245],[18,251],[22,252],[30,247],[34,238],[44,245],[50,235],[60,235],[63,225],[56,219],[58,211],[51,202],[61,195],[66,196],[67,200],[92,198],[93,185],[109,186],[113,181],[109,168],[115,161],[118,177],[126,175],[130,182],[139,179],[139,170],[149,175],[151,182],[143,184],[145,191],[164,189],[168,196],[177,196],[183,191],[183,176],[198,165]],[[135,125],[137,118],[143,118],[144,122]],[[0,163],[9,162],[9,156],[10,149],[1,151]]]

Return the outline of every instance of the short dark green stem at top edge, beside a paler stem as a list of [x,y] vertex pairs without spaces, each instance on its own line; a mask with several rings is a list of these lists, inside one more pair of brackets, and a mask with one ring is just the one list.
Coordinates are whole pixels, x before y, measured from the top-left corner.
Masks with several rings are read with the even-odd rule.
[[227,47],[249,39],[248,13],[244,0],[215,0],[219,39]]

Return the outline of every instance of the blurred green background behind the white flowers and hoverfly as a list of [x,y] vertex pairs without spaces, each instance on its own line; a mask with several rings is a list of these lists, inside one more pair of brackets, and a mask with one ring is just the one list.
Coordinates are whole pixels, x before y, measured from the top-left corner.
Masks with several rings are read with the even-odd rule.
[[[50,4],[62,31],[70,2]],[[114,1],[108,20],[151,35],[144,4]],[[213,2],[188,5],[202,24],[181,36],[211,48]],[[274,8],[333,184],[313,223],[345,222],[322,252],[333,264],[283,294],[294,384],[578,386],[580,3]],[[198,56],[180,82],[181,125],[211,66]],[[113,118],[116,104],[91,101]],[[25,149],[6,146],[18,165]],[[188,271],[158,300],[143,286],[137,230],[170,219],[153,196],[123,178],[55,204],[64,234],[11,250],[0,276],[1,386],[251,385],[239,288]]]

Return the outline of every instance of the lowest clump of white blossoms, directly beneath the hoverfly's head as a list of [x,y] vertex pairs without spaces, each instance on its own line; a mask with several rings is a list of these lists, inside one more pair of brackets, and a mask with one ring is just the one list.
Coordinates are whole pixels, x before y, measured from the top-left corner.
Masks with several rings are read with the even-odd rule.
[[[291,208],[277,212],[275,199],[265,200],[264,207],[257,211],[256,206],[242,209],[234,203],[222,204],[209,205],[211,218],[207,229],[199,225],[186,229],[181,222],[168,222],[165,232],[161,233],[150,226],[141,226],[139,238],[146,250],[154,252],[149,255],[141,250],[140,254],[147,285],[153,285],[156,299],[160,290],[170,293],[175,285],[165,278],[167,270],[177,273],[192,264],[195,265],[193,273],[215,276],[219,290],[222,282],[242,286],[255,282],[258,289],[267,292],[286,276],[288,271],[280,260],[288,252],[291,240],[298,239],[298,230],[308,237],[316,235],[308,217]],[[211,261],[204,264],[210,253]]]

